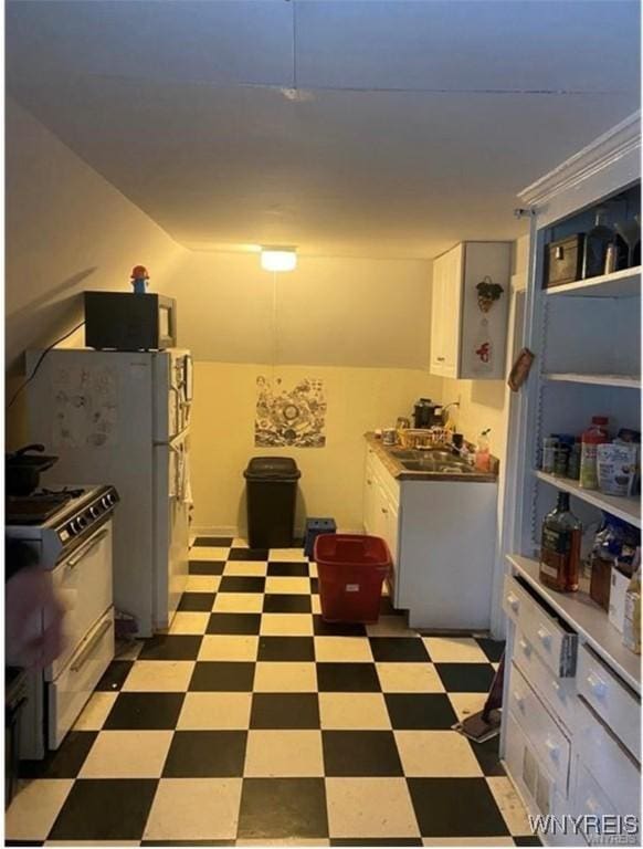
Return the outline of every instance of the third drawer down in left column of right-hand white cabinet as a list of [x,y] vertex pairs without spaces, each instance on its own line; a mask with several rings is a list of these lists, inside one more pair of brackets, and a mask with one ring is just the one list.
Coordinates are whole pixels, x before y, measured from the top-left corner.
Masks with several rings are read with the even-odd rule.
[[512,663],[509,678],[509,712],[520,724],[534,751],[555,779],[561,793],[567,793],[570,743],[554,721],[545,704]]

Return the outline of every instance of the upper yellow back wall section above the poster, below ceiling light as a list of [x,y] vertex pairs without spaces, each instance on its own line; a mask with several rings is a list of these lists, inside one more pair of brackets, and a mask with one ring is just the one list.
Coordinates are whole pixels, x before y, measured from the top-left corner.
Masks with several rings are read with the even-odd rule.
[[299,256],[273,275],[256,253],[193,252],[165,291],[198,360],[425,368],[430,273],[421,260]]

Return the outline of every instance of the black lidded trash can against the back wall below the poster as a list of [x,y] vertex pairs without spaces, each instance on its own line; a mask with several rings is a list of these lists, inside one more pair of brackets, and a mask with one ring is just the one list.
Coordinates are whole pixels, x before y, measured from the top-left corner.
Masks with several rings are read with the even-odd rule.
[[295,530],[297,481],[291,457],[255,457],[244,471],[251,548],[289,548]]

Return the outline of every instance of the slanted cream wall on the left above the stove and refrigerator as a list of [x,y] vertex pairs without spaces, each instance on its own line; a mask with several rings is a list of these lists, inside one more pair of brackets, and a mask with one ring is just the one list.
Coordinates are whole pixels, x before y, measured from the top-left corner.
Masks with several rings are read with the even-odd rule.
[[[82,321],[85,289],[128,289],[143,263],[162,289],[185,255],[167,233],[29,113],[7,101],[6,327],[8,395],[22,353]],[[82,344],[82,334],[76,337]],[[21,439],[21,405],[8,418]]]

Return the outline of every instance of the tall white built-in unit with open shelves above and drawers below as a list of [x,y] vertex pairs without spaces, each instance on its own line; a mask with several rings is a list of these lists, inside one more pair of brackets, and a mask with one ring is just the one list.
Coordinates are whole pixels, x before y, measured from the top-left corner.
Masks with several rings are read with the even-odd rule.
[[[641,268],[542,286],[549,242],[587,233],[599,206],[609,205],[616,220],[637,211],[640,151],[635,115],[519,196],[531,217],[523,344],[535,361],[510,409],[500,752],[533,815],[586,813],[587,776],[598,788],[598,814],[630,813],[641,786],[641,657],[591,599],[588,581],[577,593],[552,590],[540,581],[538,560],[542,518],[558,492],[569,493],[588,541],[601,511],[641,527],[640,499],[583,490],[539,470],[542,439],[580,436],[592,416],[608,417],[614,436],[621,428],[641,430]],[[624,705],[620,716],[616,703]],[[620,746],[609,780],[607,763],[588,748],[588,740],[598,745],[601,735]],[[628,800],[616,790],[624,776],[633,788]],[[566,842],[573,843],[587,846],[581,836]]]

